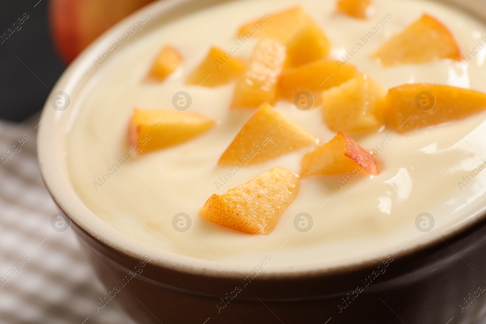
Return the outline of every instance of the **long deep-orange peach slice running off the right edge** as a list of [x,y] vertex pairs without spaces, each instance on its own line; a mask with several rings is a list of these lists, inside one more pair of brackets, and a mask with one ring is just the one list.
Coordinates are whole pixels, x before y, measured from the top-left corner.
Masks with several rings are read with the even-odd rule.
[[399,133],[463,119],[485,108],[486,93],[425,83],[391,88],[383,104],[386,123]]

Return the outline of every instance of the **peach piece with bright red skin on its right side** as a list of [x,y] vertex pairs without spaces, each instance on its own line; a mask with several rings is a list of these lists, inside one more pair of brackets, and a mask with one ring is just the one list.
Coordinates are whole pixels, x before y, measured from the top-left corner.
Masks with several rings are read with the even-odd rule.
[[302,157],[300,176],[346,173],[356,168],[378,175],[373,155],[350,136],[338,132],[329,142]]

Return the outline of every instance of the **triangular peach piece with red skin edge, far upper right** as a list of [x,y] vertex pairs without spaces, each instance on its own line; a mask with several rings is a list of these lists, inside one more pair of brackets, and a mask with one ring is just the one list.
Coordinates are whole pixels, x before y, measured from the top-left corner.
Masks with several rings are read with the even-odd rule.
[[386,66],[418,64],[444,58],[461,59],[459,46],[451,32],[429,15],[423,15],[403,32],[393,36],[373,55]]

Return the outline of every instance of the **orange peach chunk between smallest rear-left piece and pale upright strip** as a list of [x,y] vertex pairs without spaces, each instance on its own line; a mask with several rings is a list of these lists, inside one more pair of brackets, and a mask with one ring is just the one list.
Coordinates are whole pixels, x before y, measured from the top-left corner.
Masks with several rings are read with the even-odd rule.
[[216,47],[211,47],[206,58],[192,71],[186,83],[208,87],[225,85],[238,78],[244,69],[242,60]]

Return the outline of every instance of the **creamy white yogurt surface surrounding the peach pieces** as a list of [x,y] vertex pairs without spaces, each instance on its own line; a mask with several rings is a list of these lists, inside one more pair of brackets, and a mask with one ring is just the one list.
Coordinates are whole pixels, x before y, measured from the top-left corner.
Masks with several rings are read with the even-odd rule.
[[[486,166],[482,161],[486,160],[486,114],[481,113],[403,135],[385,128],[354,136],[365,149],[381,151],[376,157],[380,175],[371,177],[361,172],[345,187],[336,184],[342,175],[303,180],[297,198],[269,235],[248,235],[199,215],[198,210],[209,195],[222,194],[274,166],[298,172],[300,158],[313,149],[243,167],[222,183],[220,177],[232,168],[217,166],[217,161],[252,111],[229,111],[234,83],[218,88],[184,85],[210,46],[229,50],[236,42],[242,44],[236,37],[239,26],[265,12],[275,14],[301,3],[329,37],[333,45],[330,58],[336,59],[360,42],[363,48],[349,63],[385,87],[405,82],[445,82],[486,91],[484,52],[462,70],[451,60],[383,68],[369,57],[387,38],[423,13],[442,21],[463,52],[477,47],[479,42],[486,45],[478,37],[486,35],[485,25],[466,13],[457,13],[448,4],[407,0],[399,6],[401,0],[375,0],[373,16],[363,21],[336,14],[330,7],[333,1],[328,1],[330,5],[320,0],[278,2],[244,0],[208,7],[163,25],[141,39],[131,39],[100,67],[99,76],[84,90],[86,99],[78,105],[77,118],[71,120],[67,147],[73,187],[80,200],[87,197],[84,204],[94,214],[127,237],[157,251],[214,260],[230,269],[254,265],[269,255],[272,261],[267,268],[296,269],[343,266],[395,254],[409,239],[456,226],[484,205],[486,171],[477,169],[481,163]],[[387,13],[393,17],[364,44],[360,37],[376,27]],[[236,55],[248,59],[255,43],[252,39],[242,44]],[[150,66],[166,44],[182,52],[183,67],[165,84],[145,82],[146,65]],[[203,136],[169,149],[136,155],[122,165],[118,159],[129,150],[125,138],[133,108],[174,109],[172,97],[181,90],[191,94],[190,112],[204,114],[219,123]],[[320,118],[319,108],[299,111],[286,101],[279,101],[276,108],[321,143],[335,136]],[[387,136],[386,145],[380,144]],[[113,170],[115,164],[119,170],[111,171],[115,174],[100,182],[98,177]],[[458,182],[466,184],[463,176],[473,169],[478,175],[460,188]],[[94,182],[103,186],[95,186]],[[224,186],[217,186],[216,182]],[[180,212],[192,220],[191,229],[184,233],[172,225],[174,215]],[[301,212],[313,219],[313,227],[306,233],[294,227],[295,216]],[[417,229],[416,218],[422,212],[433,215],[432,232]],[[405,244],[402,250],[407,248],[411,246]]]

